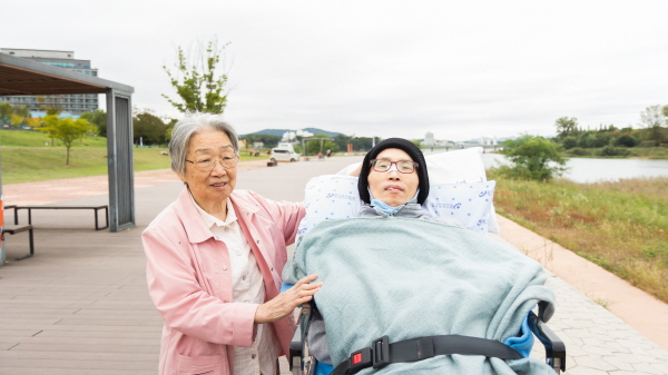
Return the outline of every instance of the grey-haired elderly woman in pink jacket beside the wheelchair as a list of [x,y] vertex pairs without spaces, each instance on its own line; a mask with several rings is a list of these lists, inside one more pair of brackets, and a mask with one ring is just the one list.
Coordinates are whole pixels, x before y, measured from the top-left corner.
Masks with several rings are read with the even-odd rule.
[[322,285],[311,275],[278,293],[304,208],[234,191],[238,140],[218,115],[178,121],[169,154],[185,188],[141,236],[165,322],[159,374],[275,375],[293,309]]

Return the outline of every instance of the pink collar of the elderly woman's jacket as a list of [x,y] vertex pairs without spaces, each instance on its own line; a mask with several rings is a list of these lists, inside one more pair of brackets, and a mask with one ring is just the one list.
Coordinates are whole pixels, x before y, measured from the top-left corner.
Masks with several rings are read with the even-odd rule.
[[[246,221],[247,217],[259,210],[257,206],[249,204],[244,199],[238,199],[236,193],[232,193],[229,199],[232,200],[232,206],[237,215],[237,219]],[[212,234],[212,230],[209,229],[210,226],[207,226],[202,218],[202,215],[199,215],[187,187],[184,188],[176,199],[175,208],[178,216],[181,218],[181,224],[186,230],[188,240],[191,244],[204,243],[214,237],[214,234]]]

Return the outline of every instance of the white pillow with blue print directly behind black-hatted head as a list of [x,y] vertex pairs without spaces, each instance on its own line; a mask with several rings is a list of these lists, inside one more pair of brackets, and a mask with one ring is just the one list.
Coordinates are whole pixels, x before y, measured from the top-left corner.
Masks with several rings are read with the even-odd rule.
[[[494,186],[494,181],[433,185],[422,207],[432,216],[456,219],[468,229],[487,235]],[[306,184],[306,216],[299,223],[297,236],[323,220],[356,217],[362,205],[356,177],[314,177]]]

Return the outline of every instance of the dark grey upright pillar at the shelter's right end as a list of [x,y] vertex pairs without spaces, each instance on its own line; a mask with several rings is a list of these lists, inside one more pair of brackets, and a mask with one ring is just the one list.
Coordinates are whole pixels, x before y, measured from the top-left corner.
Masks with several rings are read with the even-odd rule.
[[135,226],[131,92],[107,88],[109,230]]

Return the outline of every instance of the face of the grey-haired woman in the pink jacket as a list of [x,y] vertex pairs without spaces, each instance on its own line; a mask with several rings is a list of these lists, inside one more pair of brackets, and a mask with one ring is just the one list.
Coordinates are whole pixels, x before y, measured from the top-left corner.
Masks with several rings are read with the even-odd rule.
[[[223,131],[205,129],[190,137],[186,160],[197,162],[203,159],[223,159],[234,157],[234,148],[229,137]],[[220,162],[210,171],[202,171],[194,164],[186,161],[186,172],[179,176],[187,182],[195,201],[202,207],[209,207],[225,201],[236,185],[236,167],[225,169]]]

